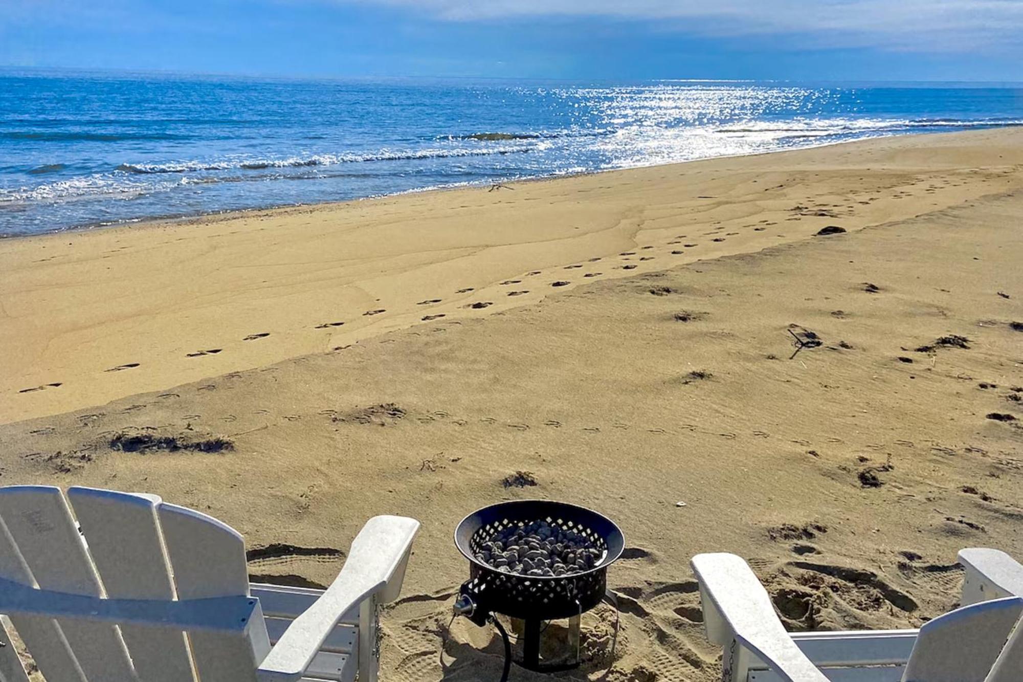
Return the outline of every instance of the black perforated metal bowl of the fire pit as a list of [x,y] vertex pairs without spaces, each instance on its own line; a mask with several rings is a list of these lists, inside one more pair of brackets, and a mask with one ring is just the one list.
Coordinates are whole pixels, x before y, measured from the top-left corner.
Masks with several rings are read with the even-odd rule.
[[[519,576],[497,570],[476,558],[494,534],[533,521],[546,521],[587,538],[604,552],[592,568],[564,576]],[[603,514],[564,502],[519,500],[473,512],[455,528],[454,542],[469,559],[470,579],[462,594],[475,603],[478,624],[490,612],[526,621],[552,621],[579,615],[604,599],[608,566],[622,555],[625,537]]]

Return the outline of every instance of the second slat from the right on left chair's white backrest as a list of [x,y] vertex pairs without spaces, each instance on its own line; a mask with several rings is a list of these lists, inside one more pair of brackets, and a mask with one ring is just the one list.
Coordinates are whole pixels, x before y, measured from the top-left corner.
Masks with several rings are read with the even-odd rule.
[[[160,498],[88,487],[68,491],[106,596],[174,598],[155,510]],[[191,682],[191,656],[183,632],[122,625],[121,635],[140,680]]]

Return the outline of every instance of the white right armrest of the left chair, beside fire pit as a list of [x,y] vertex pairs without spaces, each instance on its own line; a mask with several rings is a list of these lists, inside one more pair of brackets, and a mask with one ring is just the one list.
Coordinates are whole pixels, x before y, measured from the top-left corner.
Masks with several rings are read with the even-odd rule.
[[260,682],[300,679],[348,610],[376,593],[382,601],[397,598],[418,528],[418,521],[402,516],[369,519],[352,541],[338,578],[295,619],[260,665]]

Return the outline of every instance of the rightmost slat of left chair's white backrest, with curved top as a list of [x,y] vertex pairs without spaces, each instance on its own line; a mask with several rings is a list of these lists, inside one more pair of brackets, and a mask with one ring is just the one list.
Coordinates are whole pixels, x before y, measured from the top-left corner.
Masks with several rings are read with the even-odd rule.
[[[161,504],[159,515],[179,599],[249,594],[241,536],[212,516],[177,505]],[[189,632],[199,678],[255,682],[256,668],[270,650],[266,626],[259,621],[246,633]]]

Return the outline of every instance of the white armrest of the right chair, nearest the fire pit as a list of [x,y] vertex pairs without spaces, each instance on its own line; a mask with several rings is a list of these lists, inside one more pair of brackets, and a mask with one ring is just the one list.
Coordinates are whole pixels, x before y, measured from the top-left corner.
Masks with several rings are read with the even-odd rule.
[[[724,647],[726,668],[735,640],[787,682],[828,682],[786,632],[746,561],[735,554],[698,554],[692,565],[700,582],[707,637]],[[731,672],[737,682],[746,679],[745,670]]]

